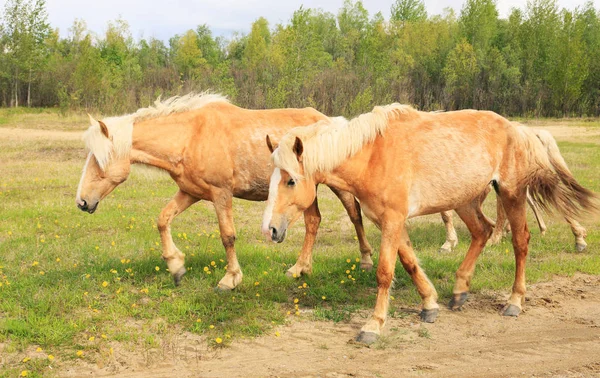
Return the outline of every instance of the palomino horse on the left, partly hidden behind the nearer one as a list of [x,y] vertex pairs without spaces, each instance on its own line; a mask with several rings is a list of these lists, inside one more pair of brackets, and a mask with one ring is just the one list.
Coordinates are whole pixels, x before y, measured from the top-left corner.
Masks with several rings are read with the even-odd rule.
[[[91,117],[90,117],[91,118]],[[199,200],[211,201],[219,221],[221,241],[227,252],[227,272],[221,289],[233,289],[242,280],[235,253],[232,198],[264,201],[269,192],[269,154],[265,135],[282,136],[295,126],[326,117],[312,108],[246,110],[216,94],[189,94],[157,101],[154,107],[122,117],[96,121],[84,134],[90,153],[77,190],[77,206],[93,213],[98,202],[129,176],[131,164],[167,171],[179,186],[162,210],[158,229],[162,257],[175,284],[185,274],[184,255],[175,246],[170,224]],[[372,267],[372,249],[365,238],[360,207],[354,197],[333,189],[356,228],[361,264]],[[302,252],[289,275],[310,273],[311,250],[321,215],[317,201],[304,211],[306,235]]]

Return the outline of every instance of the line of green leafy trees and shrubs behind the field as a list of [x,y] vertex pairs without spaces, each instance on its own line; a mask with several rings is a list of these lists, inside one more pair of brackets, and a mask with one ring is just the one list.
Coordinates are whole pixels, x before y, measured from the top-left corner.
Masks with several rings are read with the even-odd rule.
[[7,0],[0,14],[0,106],[122,114],[159,95],[212,89],[247,108],[312,106],[352,116],[374,105],[488,109],[507,116],[600,115],[600,12],[529,0],[500,18],[494,0],[428,15],[395,0],[370,16],[360,0],[337,14],[300,8],[248,34],[200,25],[134,40],[125,20],[102,36],[76,20],[61,38],[44,0]]

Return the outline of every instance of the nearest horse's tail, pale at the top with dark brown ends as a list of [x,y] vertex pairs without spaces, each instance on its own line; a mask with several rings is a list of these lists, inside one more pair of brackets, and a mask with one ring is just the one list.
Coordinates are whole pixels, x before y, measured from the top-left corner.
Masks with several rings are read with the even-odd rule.
[[573,177],[552,135],[525,126],[518,128],[527,140],[529,162],[534,167],[524,178],[532,199],[545,211],[554,208],[572,219],[599,211],[598,196]]

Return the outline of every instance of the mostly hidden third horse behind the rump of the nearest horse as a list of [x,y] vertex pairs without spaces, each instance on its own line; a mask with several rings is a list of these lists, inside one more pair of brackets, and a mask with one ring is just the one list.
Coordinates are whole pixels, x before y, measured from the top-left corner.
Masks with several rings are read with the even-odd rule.
[[[513,122],[513,124],[518,128],[527,127],[517,122]],[[530,130],[538,137],[540,142],[542,142],[545,152],[548,155],[551,155],[557,164],[560,164],[561,169],[570,173],[571,171],[569,170],[565,159],[562,157],[560,150],[558,149],[558,145],[556,144],[556,140],[552,134],[541,129]],[[482,194],[482,201],[485,199],[489,191],[490,188],[488,186],[484,191],[484,194]],[[544,219],[540,214],[540,209],[538,209],[537,205],[529,195],[529,192],[527,193],[527,203],[533,211],[533,215],[535,216],[541,234],[544,235],[547,230],[546,224],[544,223]],[[496,213],[496,226],[494,227],[492,236],[488,240],[489,245],[498,244],[502,239],[502,236],[504,236],[505,230],[508,232],[510,231],[510,225],[507,223],[506,215],[499,199],[496,200]],[[446,227],[446,241],[440,248],[440,252],[452,252],[452,249],[458,244],[458,236],[456,235],[456,230],[454,229],[452,222],[452,211],[444,211],[441,213],[441,216],[444,226]],[[571,232],[573,233],[573,236],[575,236],[575,249],[577,252],[583,252],[587,248],[587,242],[585,241],[585,238],[587,237],[587,230],[573,218],[565,217],[565,221],[569,224],[571,227]]]

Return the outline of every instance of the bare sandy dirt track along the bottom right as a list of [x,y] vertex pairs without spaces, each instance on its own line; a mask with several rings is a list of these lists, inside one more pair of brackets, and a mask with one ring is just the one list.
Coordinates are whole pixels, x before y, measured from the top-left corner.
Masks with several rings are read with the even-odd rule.
[[[499,314],[505,296],[471,296],[461,312],[443,308],[434,324],[397,309],[383,336],[352,340],[367,313],[348,323],[309,312],[269,335],[211,349],[182,333],[162,350],[116,348],[107,366],[77,361],[65,377],[600,377],[600,277],[577,274],[531,285],[518,318]],[[276,336],[279,332],[280,336]]]

